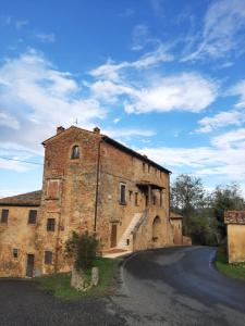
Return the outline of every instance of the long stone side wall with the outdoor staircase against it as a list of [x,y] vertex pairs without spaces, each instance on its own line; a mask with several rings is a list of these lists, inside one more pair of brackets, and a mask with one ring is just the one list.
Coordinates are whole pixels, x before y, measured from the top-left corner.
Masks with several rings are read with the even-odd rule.
[[[148,213],[147,223],[138,235],[134,237],[134,249],[152,247],[152,222],[156,216],[162,221],[161,244],[169,243],[169,174],[144,161],[125,153],[118,148],[102,143],[100,158],[99,210],[97,233],[105,249],[111,247],[110,234],[112,224],[117,225],[117,241],[119,242],[137,213],[146,210],[146,192],[140,190],[137,183],[140,180],[157,184],[164,188],[162,193],[162,208],[160,208],[160,193],[152,190],[155,204]],[[120,184],[126,186],[126,203],[120,203]],[[137,203],[135,202],[137,196]],[[139,236],[143,233],[143,236]],[[147,239],[147,240],[146,240]],[[160,242],[159,242],[160,246]]]

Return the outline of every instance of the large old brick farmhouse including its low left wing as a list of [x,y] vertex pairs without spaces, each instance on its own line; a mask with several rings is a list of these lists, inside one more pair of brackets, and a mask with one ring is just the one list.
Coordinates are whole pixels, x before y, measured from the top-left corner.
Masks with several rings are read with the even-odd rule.
[[99,128],[58,127],[42,145],[42,190],[0,199],[0,276],[68,271],[73,230],[96,233],[103,251],[182,243],[170,171]]

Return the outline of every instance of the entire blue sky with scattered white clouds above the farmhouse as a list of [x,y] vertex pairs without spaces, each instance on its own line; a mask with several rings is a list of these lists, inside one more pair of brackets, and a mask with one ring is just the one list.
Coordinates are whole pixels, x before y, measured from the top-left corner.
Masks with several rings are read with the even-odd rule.
[[0,40],[0,197],[40,189],[76,120],[245,190],[244,0],[1,0]]

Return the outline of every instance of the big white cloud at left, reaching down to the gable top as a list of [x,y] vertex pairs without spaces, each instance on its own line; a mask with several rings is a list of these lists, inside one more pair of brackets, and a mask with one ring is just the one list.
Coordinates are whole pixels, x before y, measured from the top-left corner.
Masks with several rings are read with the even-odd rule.
[[57,70],[35,50],[0,66],[0,105],[20,126],[17,129],[15,122],[14,130],[12,124],[1,131],[1,142],[17,143],[33,152],[58,125],[70,126],[77,118],[81,126],[90,128],[106,114],[96,99],[83,95],[70,73]]

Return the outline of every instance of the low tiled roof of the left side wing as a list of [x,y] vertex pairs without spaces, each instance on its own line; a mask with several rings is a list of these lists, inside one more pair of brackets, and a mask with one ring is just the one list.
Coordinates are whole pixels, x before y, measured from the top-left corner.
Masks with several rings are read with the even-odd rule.
[[41,190],[22,193],[13,197],[0,199],[0,205],[11,206],[39,206],[41,200]]

